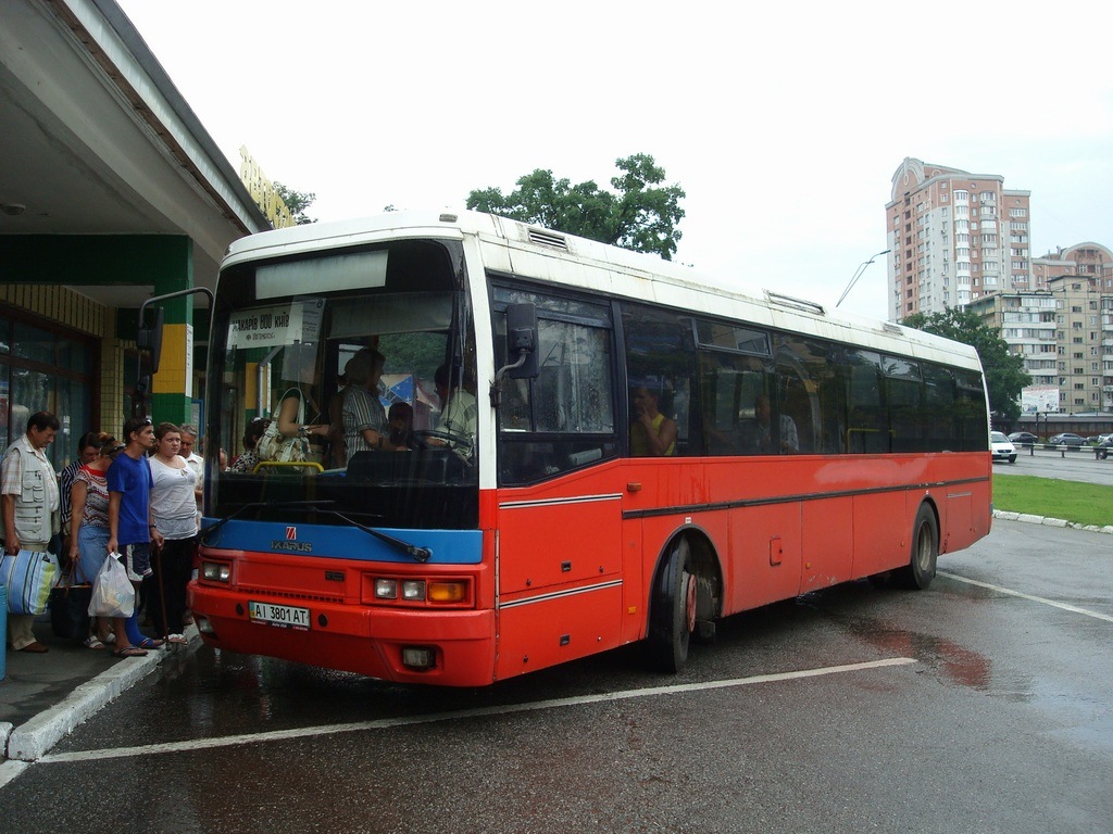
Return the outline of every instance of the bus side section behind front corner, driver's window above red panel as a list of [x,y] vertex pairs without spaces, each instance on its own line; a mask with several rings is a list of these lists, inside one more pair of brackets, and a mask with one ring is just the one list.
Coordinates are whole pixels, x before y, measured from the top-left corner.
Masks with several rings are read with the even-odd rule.
[[500,368],[510,304],[535,308],[538,361],[500,388],[500,678],[619,645],[623,602],[610,308],[495,287]]

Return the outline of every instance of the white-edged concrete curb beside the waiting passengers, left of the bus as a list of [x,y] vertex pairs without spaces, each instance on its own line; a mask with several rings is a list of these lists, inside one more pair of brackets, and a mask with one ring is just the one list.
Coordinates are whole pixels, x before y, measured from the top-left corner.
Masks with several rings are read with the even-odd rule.
[[[200,642],[196,626],[190,626],[186,636],[189,639],[189,644],[183,647],[186,651]],[[27,723],[18,727],[0,724],[0,751],[7,752],[8,761],[35,762],[86,718],[147,677],[173,651],[159,648],[144,657],[121,658],[111,668],[78,686],[61,703]]]

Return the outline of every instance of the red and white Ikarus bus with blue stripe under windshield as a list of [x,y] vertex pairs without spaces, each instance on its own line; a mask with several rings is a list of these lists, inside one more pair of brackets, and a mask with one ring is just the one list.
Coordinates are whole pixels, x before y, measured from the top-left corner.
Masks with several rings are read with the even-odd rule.
[[[923,588],[989,530],[973,348],[503,218],[245,238],[210,346],[207,443],[233,458],[290,389],[327,423],[367,348],[373,394],[413,411],[408,450],[334,436],[210,468],[190,590],[211,646],[475,686],[644,641],[679,671],[721,617],[861,577]],[[660,456],[631,443],[650,399]]]

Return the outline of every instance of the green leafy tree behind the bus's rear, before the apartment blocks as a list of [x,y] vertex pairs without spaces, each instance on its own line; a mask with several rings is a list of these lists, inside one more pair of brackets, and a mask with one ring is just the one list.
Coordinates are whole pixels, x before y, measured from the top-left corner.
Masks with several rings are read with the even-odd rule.
[[985,371],[991,413],[1008,424],[1021,416],[1021,389],[1032,384],[1032,377],[1024,370],[1024,357],[1011,354],[1008,342],[1001,338],[1001,332],[985,324],[977,314],[951,307],[930,316],[914,314],[903,324],[971,345],[977,350]]

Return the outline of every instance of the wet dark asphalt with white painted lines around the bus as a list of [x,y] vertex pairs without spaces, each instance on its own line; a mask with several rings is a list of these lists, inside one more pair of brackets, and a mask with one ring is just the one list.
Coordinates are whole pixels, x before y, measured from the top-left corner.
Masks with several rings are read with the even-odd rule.
[[[868,583],[483,689],[203,648],[0,790],[4,831],[1107,832],[1113,536],[1001,523]],[[8,821],[16,821],[9,825]]]

